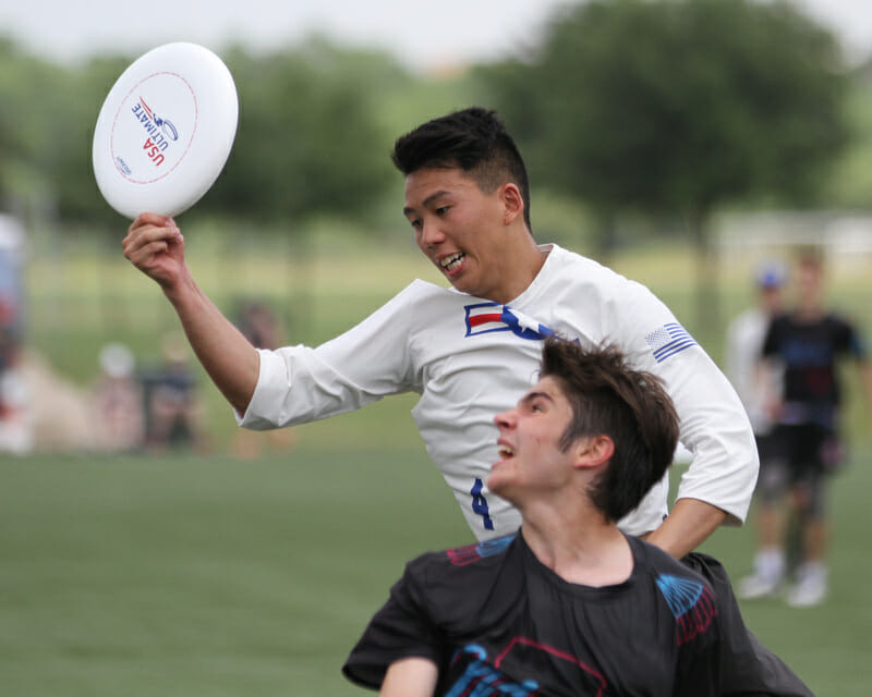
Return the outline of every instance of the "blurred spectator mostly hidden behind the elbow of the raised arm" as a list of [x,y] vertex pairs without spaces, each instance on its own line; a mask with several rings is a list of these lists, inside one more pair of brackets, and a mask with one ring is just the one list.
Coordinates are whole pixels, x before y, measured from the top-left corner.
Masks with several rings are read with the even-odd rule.
[[[245,301],[241,304],[237,327],[255,348],[279,348],[281,330],[275,313],[261,301]],[[293,448],[296,436],[291,428],[270,431],[237,429],[233,436],[233,453],[241,460],[255,460],[268,445],[276,452]]]

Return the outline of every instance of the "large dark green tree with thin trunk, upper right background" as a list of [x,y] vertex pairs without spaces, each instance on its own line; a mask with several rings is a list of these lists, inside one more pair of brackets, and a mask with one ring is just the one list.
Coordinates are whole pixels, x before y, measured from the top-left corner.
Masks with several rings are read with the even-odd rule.
[[593,0],[488,75],[538,181],[603,221],[686,221],[701,325],[718,319],[712,215],[764,196],[812,205],[847,140],[839,46],[787,2]]

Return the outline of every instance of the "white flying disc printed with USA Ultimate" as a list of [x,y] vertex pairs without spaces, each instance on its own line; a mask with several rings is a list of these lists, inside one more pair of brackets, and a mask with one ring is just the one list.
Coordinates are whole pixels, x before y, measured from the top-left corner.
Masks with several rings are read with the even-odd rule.
[[119,213],[178,216],[221,173],[237,134],[230,71],[196,44],[166,44],[118,78],[94,130],[94,175]]

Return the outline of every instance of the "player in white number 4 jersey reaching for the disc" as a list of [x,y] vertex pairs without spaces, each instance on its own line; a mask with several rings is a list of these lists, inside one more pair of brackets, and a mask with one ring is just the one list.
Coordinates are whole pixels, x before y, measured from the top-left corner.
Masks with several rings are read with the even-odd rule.
[[682,557],[722,523],[743,521],[758,457],[735,391],[642,285],[535,243],[523,160],[499,118],[472,108],[436,119],[399,138],[393,160],[419,247],[452,288],[416,281],[317,348],[256,351],[197,288],[175,223],[143,215],[131,225],[125,256],[161,285],[241,424],[300,424],[416,391],[431,456],[474,533],[496,536],[519,518],[482,484],[496,455],[494,414],[532,383],[541,335],[606,341],[664,379],[694,455],[665,522],[664,481],[622,527]]

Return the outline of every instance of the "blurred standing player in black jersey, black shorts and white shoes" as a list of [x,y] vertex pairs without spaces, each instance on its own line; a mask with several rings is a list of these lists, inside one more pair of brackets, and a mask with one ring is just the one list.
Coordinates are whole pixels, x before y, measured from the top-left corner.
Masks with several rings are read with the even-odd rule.
[[[746,598],[765,597],[780,589],[787,575],[785,531],[789,511],[799,530],[799,563],[787,595],[788,603],[795,607],[818,604],[828,591],[825,494],[827,476],[844,456],[837,378],[843,357],[857,359],[867,404],[872,405],[867,348],[853,325],[826,308],[823,276],[820,253],[801,250],[796,305],[773,319],[763,342],[765,371],[783,371],[783,390],[768,396],[767,412],[775,426],[773,453],[756,488],[759,548],[753,574],[739,586]],[[762,384],[774,382],[770,378]]]

